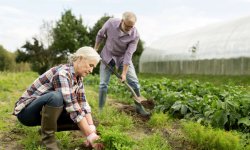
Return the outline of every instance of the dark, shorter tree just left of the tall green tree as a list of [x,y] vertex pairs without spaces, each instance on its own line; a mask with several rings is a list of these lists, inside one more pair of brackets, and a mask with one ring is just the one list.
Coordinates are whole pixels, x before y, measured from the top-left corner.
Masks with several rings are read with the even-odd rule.
[[50,51],[44,49],[43,44],[36,38],[33,38],[33,43],[26,41],[22,48],[17,50],[16,62],[29,62],[31,69],[39,74],[50,67]]

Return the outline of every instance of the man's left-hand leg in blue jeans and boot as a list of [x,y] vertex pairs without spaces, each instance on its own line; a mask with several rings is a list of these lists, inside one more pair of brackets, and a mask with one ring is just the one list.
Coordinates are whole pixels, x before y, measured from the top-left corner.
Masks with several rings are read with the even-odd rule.
[[[109,65],[114,67],[114,60],[112,60]],[[100,66],[100,85],[99,85],[99,111],[101,112],[108,93],[108,84],[110,80],[111,71],[109,68],[105,67],[105,65],[101,62]]]

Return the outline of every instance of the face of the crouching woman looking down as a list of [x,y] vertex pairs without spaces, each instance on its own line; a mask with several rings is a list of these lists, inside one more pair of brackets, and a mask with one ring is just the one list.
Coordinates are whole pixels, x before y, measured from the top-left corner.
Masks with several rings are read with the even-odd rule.
[[92,73],[97,64],[98,61],[96,60],[88,60],[85,58],[78,59],[75,62],[75,72],[79,76],[86,77],[88,74]]

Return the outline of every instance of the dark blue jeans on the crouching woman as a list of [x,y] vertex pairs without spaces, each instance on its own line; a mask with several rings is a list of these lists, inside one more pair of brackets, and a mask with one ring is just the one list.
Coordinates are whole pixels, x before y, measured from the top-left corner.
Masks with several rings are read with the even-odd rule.
[[[44,105],[50,107],[61,107],[63,106],[63,96],[60,92],[53,91],[42,95],[41,97],[32,101],[27,105],[19,114],[17,114],[18,120],[26,126],[37,126],[41,125],[41,114]],[[57,122],[63,123],[74,123],[69,114],[63,109]]]

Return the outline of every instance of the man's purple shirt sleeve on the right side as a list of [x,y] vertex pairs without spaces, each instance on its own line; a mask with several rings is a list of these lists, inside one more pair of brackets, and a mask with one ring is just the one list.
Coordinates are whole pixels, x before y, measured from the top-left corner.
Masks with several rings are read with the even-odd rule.
[[124,55],[123,64],[128,65],[130,61],[132,60],[132,56],[133,56],[133,53],[136,51],[138,41],[139,41],[139,36],[129,43],[127,51],[125,52],[125,55]]

